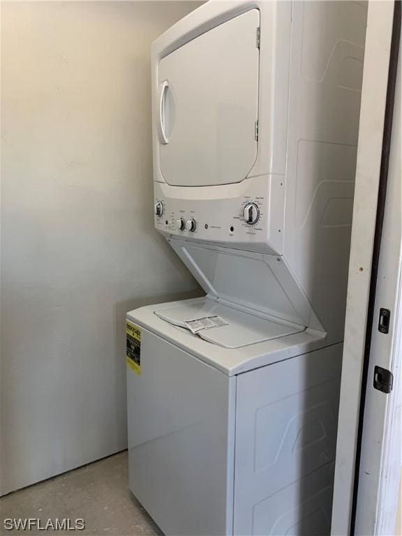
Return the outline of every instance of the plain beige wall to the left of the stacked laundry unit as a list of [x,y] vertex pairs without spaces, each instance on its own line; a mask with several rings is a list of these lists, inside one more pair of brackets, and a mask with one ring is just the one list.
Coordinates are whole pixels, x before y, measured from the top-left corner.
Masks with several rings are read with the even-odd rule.
[[149,49],[195,2],[3,2],[3,493],[126,447],[124,316],[197,292],[153,228]]

